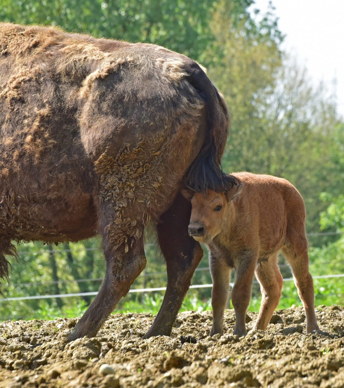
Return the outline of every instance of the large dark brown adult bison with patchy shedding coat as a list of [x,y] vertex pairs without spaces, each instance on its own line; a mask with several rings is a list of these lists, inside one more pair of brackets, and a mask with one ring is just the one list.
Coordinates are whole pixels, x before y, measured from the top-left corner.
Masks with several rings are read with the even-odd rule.
[[154,220],[169,284],[148,335],[169,334],[202,255],[176,194],[232,184],[217,90],[162,47],[13,24],[0,24],[0,88],[0,275],[11,240],[101,233],[105,280],[69,340],[95,335],[144,268]]

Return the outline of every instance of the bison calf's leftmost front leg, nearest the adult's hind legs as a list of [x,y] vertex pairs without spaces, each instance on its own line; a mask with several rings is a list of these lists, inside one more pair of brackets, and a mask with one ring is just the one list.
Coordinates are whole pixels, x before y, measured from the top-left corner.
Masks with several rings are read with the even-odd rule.
[[230,267],[223,260],[210,257],[210,272],[212,274],[212,307],[213,327],[210,336],[224,333],[224,311],[228,300]]

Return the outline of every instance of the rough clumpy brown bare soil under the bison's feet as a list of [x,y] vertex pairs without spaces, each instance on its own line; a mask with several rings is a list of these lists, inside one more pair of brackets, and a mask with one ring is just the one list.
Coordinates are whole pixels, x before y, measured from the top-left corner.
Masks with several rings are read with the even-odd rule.
[[[344,308],[317,307],[305,334],[301,307],[278,310],[265,332],[209,337],[212,313],[180,313],[171,337],[142,340],[151,314],[114,314],[96,338],[67,343],[76,319],[0,323],[0,387],[343,387]],[[255,313],[248,312],[247,330]]]

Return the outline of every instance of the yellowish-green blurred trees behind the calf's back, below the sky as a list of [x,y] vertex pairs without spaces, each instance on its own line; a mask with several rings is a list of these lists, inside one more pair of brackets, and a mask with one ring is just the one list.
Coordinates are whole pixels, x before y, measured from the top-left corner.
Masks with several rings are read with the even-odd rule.
[[306,69],[280,53],[271,33],[250,36],[244,20],[232,31],[229,16],[217,12],[213,31],[222,60],[210,73],[232,121],[223,168],[289,180],[304,197],[307,231],[316,232],[328,205],[320,193],[343,189],[343,122],[323,85],[313,87]]

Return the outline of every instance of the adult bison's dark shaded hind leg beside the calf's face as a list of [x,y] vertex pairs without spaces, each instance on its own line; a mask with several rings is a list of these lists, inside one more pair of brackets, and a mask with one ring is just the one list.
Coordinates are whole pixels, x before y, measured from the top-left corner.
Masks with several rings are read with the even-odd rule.
[[160,217],[158,240],[166,260],[167,289],[157,317],[144,338],[171,334],[194,270],[203,256],[200,244],[188,235],[190,214],[191,203],[179,193]]

